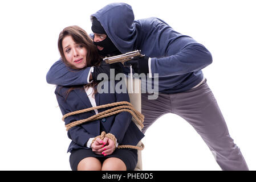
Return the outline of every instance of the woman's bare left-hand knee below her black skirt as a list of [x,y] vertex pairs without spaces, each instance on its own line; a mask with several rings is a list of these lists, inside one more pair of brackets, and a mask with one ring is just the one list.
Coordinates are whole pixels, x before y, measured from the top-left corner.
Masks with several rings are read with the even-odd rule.
[[100,171],[101,162],[96,158],[84,158],[78,164],[78,171]]

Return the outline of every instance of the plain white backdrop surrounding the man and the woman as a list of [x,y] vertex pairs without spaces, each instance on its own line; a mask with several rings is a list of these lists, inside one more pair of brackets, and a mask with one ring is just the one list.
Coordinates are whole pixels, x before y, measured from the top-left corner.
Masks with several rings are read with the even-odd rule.
[[[1,170],[70,170],[70,140],[46,73],[60,57],[59,32],[78,25],[90,33],[90,15],[111,2],[0,2]],[[255,170],[254,1],[123,2],[135,19],[161,18],[209,49],[213,63],[204,75],[231,137]],[[220,170],[201,137],[177,115],[164,115],[145,135],[144,170]]]

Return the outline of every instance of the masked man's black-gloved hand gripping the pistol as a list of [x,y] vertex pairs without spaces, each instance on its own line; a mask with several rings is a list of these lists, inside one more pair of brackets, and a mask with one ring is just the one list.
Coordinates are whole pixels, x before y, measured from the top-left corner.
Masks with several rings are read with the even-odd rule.
[[149,73],[148,59],[148,56],[144,56],[137,60],[126,61],[124,64],[132,65],[132,69],[135,71],[135,73],[145,73],[147,75],[147,73]]

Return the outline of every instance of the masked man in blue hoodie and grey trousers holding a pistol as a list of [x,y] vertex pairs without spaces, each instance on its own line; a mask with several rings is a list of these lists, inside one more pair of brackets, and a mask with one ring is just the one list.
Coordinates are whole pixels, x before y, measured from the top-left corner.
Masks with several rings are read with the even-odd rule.
[[[180,115],[201,135],[223,170],[248,170],[201,71],[212,63],[208,49],[193,38],[174,31],[161,19],[134,20],[132,7],[125,3],[109,4],[91,19],[94,42],[101,54],[115,52],[115,55],[119,51],[125,53],[139,49],[145,57],[128,64],[136,73],[159,79],[156,100],[148,100],[148,93],[141,96],[144,133],[161,115]],[[59,85],[86,84],[89,80],[85,78],[90,73],[91,69],[87,68],[75,77],[67,71],[60,73],[60,68],[53,66],[47,81]],[[63,75],[68,75],[71,80],[65,81]]]

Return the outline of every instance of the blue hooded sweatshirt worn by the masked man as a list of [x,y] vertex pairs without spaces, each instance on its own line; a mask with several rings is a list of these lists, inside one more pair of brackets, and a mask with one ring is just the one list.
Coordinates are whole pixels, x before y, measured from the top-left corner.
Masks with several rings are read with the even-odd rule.
[[[99,20],[120,52],[139,49],[141,53],[151,57],[149,69],[152,76],[154,73],[159,74],[160,93],[178,93],[193,88],[204,77],[201,69],[212,63],[212,55],[202,44],[197,43],[190,36],[174,31],[159,18],[134,20],[132,7],[125,3],[111,3],[92,16]],[[73,85],[87,83],[89,68],[72,76],[63,72],[63,63],[55,64],[47,73],[48,83],[59,85],[71,85],[71,82]],[[57,77],[55,77],[56,72],[59,72]],[[82,81],[81,78],[86,74],[86,78]],[[69,77],[68,83],[64,81],[65,76]]]

